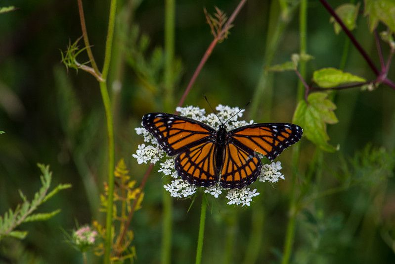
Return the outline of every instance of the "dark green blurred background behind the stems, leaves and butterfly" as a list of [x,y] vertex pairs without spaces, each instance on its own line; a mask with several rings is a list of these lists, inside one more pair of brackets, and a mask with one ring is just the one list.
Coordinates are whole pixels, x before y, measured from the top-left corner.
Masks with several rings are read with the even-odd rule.
[[[174,107],[213,38],[203,7],[214,12],[218,6],[229,15],[237,3],[176,1]],[[344,1],[331,1],[332,6],[341,3]],[[21,243],[12,239],[1,242],[0,262],[32,259],[38,263],[82,263],[80,253],[65,243],[61,229],[72,230],[76,221],[85,224],[104,219],[98,212],[97,191],[102,192],[107,177],[107,146],[97,81],[81,70],[67,72],[61,63],[60,50],[66,50],[69,41],[82,35],[77,1],[0,1],[0,6],[8,5],[19,9],[0,14],[0,130],[6,132],[0,135],[0,213],[20,202],[18,189],[28,197],[39,189],[37,162],[51,166],[54,185],[71,183],[73,188],[41,208],[60,208],[61,213],[47,222],[23,225],[29,235]],[[86,0],[84,9],[89,40],[101,67],[109,2]],[[142,143],[134,128],[140,126],[143,114],[164,111],[165,107],[164,55],[159,49],[164,46],[164,10],[163,1],[120,0],[117,11],[108,79],[115,160],[125,158],[137,182],[147,165],[138,165],[132,158]],[[309,1],[307,12],[307,53],[315,57],[307,64],[309,80],[315,69],[339,67],[346,37],[343,33],[335,35],[330,16],[318,1]],[[252,100],[260,80],[267,78],[253,119],[291,122],[297,104],[296,75],[266,75],[263,67],[268,56],[273,55],[271,64],[275,64],[299,52],[298,5],[291,10],[272,53],[268,38],[278,23],[270,23],[269,18],[276,21],[278,16],[277,1],[247,1],[228,39],[215,48],[204,66],[185,105],[210,112],[205,94],[213,106],[242,107]],[[354,34],[379,65],[374,38],[363,15]],[[388,47],[383,47],[387,54]],[[78,59],[85,62],[88,57],[83,53]],[[345,70],[374,79],[352,46]],[[300,211],[291,262],[395,263],[394,244],[391,248],[391,237],[395,237],[395,91],[384,86],[373,92],[354,88],[336,93],[334,102],[340,122],[328,127],[328,133],[333,145],[340,144],[340,151],[321,153],[307,139],[299,143],[302,174],[296,181],[296,192],[300,192]],[[249,114],[247,107],[246,118]],[[368,150],[367,145],[371,146]],[[378,150],[380,147],[384,149]],[[282,162],[285,181],[274,186],[255,183],[253,188],[261,195],[249,208],[234,208],[227,206],[224,198],[217,201],[209,197],[203,263],[280,262],[291,195],[291,149],[277,158]],[[142,209],[132,221],[136,263],[159,263],[161,259],[164,180],[156,171],[148,179]],[[310,177],[308,181],[306,177]],[[339,190],[333,195],[314,198],[336,187]],[[200,198],[198,201],[187,212],[191,200],[174,200],[172,263],[194,262]],[[19,251],[23,254],[17,254]]]

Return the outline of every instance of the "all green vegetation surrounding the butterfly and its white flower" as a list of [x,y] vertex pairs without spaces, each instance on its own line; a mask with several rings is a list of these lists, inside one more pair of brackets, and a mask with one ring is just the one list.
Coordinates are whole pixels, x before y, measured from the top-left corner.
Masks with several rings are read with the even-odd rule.
[[[393,0],[0,2],[1,262],[390,263],[394,32]],[[304,128],[250,206],[132,157],[203,95]]]

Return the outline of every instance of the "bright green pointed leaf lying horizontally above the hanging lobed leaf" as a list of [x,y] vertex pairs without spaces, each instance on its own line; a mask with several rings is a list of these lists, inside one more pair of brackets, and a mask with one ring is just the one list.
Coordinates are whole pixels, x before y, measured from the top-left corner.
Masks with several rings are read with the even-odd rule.
[[348,83],[366,82],[362,77],[335,68],[322,68],[314,71],[313,81],[322,88],[330,88]]

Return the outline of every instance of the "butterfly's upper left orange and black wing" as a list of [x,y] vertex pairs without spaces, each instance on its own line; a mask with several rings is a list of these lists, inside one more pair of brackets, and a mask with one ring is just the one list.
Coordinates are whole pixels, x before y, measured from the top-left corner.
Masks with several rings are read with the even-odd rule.
[[202,122],[168,113],[148,113],[142,125],[174,156],[215,137],[216,131]]

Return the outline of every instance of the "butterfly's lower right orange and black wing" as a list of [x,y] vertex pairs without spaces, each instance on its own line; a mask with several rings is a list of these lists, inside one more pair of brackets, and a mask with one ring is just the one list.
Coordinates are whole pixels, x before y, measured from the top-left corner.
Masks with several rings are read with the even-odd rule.
[[256,153],[245,151],[236,144],[227,143],[219,185],[230,189],[243,188],[257,180],[261,168],[261,159]]

